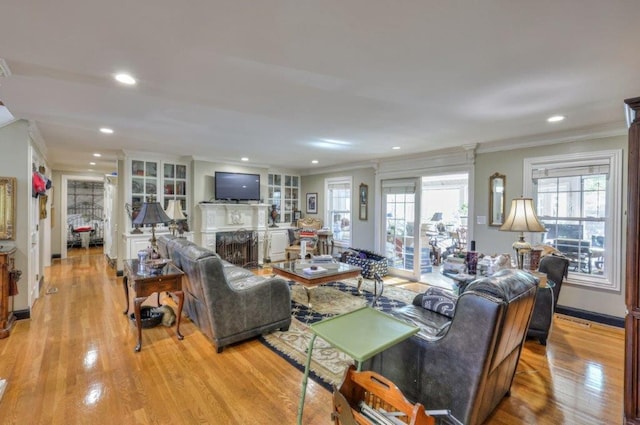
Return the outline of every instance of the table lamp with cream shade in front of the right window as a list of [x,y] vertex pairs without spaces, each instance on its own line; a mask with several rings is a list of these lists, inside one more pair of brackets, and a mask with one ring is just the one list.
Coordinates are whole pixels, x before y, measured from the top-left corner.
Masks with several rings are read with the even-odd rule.
[[524,240],[524,232],[544,232],[544,225],[538,220],[532,198],[515,198],[511,201],[509,215],[500,227],[507,232],[520,232],[520,239],[513,243],[518,268],[524,266],[524,256],[531,251],[531,245]]

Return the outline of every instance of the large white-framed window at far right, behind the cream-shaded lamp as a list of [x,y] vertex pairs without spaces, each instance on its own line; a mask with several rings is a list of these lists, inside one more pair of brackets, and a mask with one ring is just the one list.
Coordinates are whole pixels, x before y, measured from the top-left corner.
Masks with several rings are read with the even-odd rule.
[[538,240],[571,261],[571,283],[620,289],[621,151],[525,160],[531,193],[547,231]]

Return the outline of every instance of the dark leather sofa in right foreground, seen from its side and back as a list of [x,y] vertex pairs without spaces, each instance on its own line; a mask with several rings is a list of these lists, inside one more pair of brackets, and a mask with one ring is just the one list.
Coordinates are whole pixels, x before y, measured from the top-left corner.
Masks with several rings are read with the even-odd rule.
[[[501,270],[473,281],[448,317],[414,305],[393,315],[418,334],[365,362],[426,409],[449,409],[467,425],[481,424],[509,394],[536,296],[538,279]],[[417,304],[417,305],[416,305]]]

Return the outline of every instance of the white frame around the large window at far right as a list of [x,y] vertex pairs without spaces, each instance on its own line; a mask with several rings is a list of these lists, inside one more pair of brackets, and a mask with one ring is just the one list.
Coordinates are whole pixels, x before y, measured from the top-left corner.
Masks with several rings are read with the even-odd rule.
[[[605,238],[605,273],[592,275],[569,272],[567,282],[592,288],[610,291],[620,290],[620,276],[622,267],[622,150],[606,150],[587,153],[574,153],[535,158],[525,158],[523,193],[525,196],[534,195],[533,170],[541,167],[571,167],[576,163],[594,165],[606,161],[609,163],[609,178],[607,179],[607,218]],[[530,236],[529,240],[537,240]]]

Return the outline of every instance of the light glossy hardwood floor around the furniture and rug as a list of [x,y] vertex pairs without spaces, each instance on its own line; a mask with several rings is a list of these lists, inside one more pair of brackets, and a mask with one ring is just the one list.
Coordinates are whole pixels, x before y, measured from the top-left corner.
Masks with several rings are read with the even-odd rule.
[[[183,341],[174,327],[145,329],[135,353],[122,278],[99,249],[82,251],[54,261],[32,318],[0,340],[0,424],[295,423],[302,373],[257,340],[216,354],[186,319]],[[622,423],[623,334],[557,317],[546,348],[527,341],[487,423]],[[310,381],[304,423],[330,424],[330,411]]]

